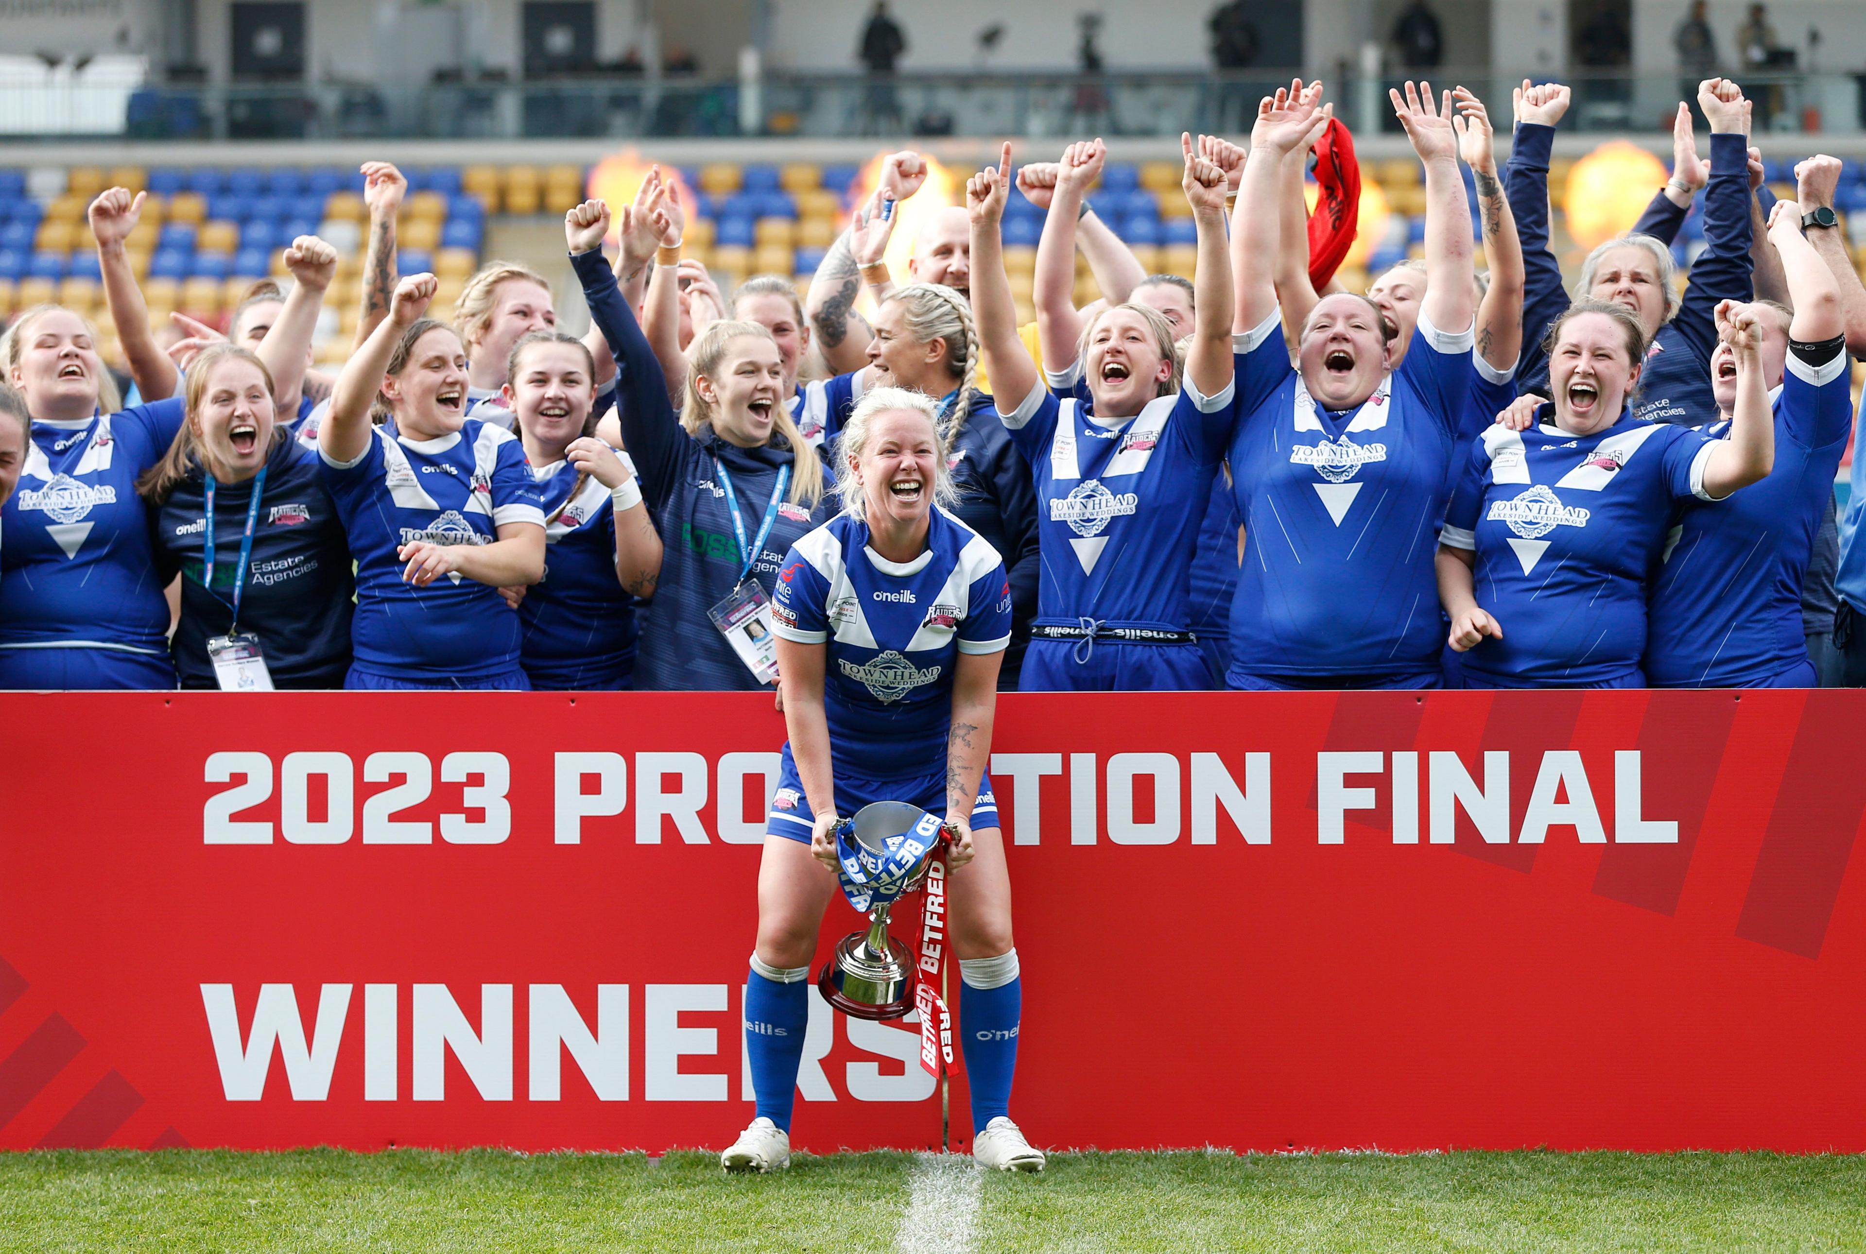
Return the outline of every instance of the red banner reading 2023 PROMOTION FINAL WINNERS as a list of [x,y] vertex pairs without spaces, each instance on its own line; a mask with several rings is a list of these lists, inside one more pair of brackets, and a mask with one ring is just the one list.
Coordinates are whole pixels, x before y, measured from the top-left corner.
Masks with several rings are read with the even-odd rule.
[[[1006,696],[1013,1116],[1862,1151],[1862,726],[1819,690]],[[0,696],[0,1148],[728,1144],[782,739],[743,694]],[[937,1146],[918,1047],[814,998],[795,1144]]]

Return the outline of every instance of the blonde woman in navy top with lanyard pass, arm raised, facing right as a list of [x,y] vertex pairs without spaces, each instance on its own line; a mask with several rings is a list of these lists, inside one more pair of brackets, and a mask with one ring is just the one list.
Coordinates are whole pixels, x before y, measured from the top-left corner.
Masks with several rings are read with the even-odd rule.
[[[601,248],[575,254],[571,267],[614,353],[621,435],[657,532],[668,539],[634,687],[774,683],[771,588],[789,547],[827,517],[823,463],[786,405],[778,345],[758,323],[707,327],[687,353],[685,405],[675,418],[662,366]],[[657,252],[655,271],[649,293],[670,291],[677,244]],[[746,638],[746,623],[763,627],[761,648]]]

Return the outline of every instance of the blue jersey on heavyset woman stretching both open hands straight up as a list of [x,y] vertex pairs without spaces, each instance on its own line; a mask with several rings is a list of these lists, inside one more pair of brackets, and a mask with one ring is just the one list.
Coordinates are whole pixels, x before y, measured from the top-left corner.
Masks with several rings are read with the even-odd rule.
[[1232,480],[1245,562],[1232,687],[1386,687],[1439,674],[1435,534],[1474,334],[1420,317],[1400,369],[1351,414],[1316,405],[1265,319],[1239,340]]

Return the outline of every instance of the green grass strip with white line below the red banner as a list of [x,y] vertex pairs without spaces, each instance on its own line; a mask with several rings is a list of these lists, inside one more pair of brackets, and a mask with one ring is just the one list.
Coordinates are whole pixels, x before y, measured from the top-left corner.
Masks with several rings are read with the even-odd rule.
[[[944,1185],[944,1189],[940,1187]],[[13,1153],[0,1250],[1866,1250],[1866,1157]]]

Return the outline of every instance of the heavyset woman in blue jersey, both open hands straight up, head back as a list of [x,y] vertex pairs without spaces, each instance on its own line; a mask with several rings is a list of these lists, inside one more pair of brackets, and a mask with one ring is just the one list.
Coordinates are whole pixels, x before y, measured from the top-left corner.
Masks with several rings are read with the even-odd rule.
[[[1413,343],[1388,369],[1392,327],[1372,297],[1330,293],[1278,334],[1288,267],[1284,162],[1329,123],[1321,84],[1265,97],[1232,218],[1237,269],[1237,435],[1230,461],[1245,519],[1232,608],[1233,689],[1435,689],[1433,526],[1470,392],[1470,209],[1454,101],[1427,84],[1390,93],[1426,166],[1426,282]],[[1413,276],[1418,278],[1416,274]]]

